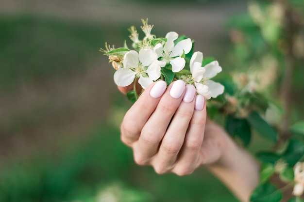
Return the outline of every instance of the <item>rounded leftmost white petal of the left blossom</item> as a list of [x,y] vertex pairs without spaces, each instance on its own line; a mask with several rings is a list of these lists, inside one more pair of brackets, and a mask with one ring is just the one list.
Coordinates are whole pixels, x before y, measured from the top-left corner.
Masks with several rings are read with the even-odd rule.
[[114,81],[118,86],[128,86],[135,78],[135,72],[128,68],[120,68],[114,74]]

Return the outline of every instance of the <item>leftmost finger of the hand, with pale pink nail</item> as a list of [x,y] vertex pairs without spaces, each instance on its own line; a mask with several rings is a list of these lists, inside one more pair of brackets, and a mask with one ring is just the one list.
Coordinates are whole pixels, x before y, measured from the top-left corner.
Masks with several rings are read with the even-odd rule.
[[140,132],[155,110],[167,84],[160,80],[150,85],[127,111],[120,126],[121,140],[131,146],[138,140]]

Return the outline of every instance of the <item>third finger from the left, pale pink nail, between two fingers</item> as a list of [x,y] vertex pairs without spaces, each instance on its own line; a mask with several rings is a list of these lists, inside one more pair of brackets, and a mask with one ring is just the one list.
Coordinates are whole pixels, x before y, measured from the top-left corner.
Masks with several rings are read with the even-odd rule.
[[176,110],[167,132],[160,144],[157,155],[153,158],[154,169],[157,173],[170,171],[185,140],[185,134],[194,111],[193,85],[186,86],[183,102]]

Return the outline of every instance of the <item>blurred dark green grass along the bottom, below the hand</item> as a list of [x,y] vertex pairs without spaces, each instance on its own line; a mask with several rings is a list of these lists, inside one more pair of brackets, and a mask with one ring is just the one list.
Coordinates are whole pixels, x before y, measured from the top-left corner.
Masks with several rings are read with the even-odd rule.
[[150,193],[147,201],[236,202],[206,171],[178,177],[161,176],[150,167],[138,167],[133,162],[131,149],[120,142],[115,127],[101,125],[88,136],[92,138],[63,151],[55,159],[35,155],[31,160],[4,168],[0,173],[0,201],[86,201],[94,198],[100,187],[120,182],[140,193]]

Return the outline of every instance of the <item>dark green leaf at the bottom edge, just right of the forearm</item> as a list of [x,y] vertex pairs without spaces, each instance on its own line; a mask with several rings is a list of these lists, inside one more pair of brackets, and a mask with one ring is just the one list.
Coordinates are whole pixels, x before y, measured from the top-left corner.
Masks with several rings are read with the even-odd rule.
[[270,183],[259,185],[253,191],[250,201],[251,202],[280,202],[283,194],[277,187]]

